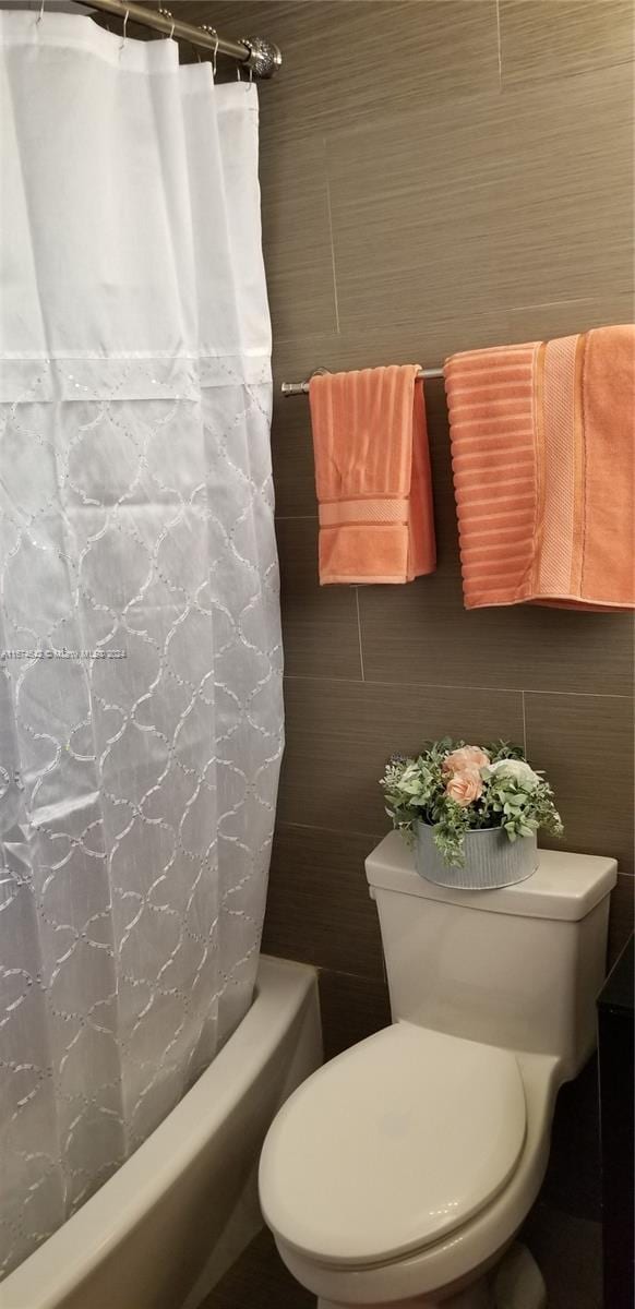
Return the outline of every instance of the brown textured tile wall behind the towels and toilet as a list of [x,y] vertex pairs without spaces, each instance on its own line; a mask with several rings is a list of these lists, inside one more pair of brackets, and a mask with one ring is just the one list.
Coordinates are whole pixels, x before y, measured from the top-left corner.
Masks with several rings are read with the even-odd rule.
[[[261,89],[276,386],[632,319],[631,0],[178,9],[284,51]],[[388,1021],[363,857],[394,749],[444,732],[526,744],[564,847],[619,860],[611,956],[632,922],[631,619],[465,613],[439,382],[427,411],[439,571],[319,589],[308,403],[275,401],[288,746],[264,948],[321,967],[329,1052]]]

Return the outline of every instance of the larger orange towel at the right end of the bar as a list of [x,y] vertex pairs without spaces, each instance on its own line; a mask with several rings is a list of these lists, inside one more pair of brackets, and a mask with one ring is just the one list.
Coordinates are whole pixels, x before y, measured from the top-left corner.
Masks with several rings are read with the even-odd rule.
[[466,609],[635,607],[635,327],[444,372]]

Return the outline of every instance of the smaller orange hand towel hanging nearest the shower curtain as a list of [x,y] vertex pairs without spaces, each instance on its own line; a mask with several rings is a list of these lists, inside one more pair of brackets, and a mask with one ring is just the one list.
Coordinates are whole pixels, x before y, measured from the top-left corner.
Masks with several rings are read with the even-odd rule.
[[416,373],[416,364],[405,364],[310,380],[322,585],[403,583],[435,569]]

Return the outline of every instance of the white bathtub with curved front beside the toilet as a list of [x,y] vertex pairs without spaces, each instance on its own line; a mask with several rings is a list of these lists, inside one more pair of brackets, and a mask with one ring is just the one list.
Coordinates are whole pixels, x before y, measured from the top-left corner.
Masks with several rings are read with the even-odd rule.
[[316,971],[263,956],[227,1046],[132,1158],[0,1283],[0,1309],[194,1309],[258,1229],[264,1134],[321,1062]]

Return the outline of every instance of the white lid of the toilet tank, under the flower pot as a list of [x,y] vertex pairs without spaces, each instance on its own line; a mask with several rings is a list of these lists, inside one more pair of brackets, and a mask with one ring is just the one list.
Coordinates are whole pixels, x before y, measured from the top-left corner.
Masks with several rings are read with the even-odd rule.
[[491,891],[454,890],[419,877],[414,853],[398,831],[389,833],[368,855],[367,878],[372,888],[419,895],[423,899],[462,905],[495,914],[518,914],[579,922],[613,889],[617,861],[602,855],[572,855],[563,850],[541,850],[532,877],[515,886]]

